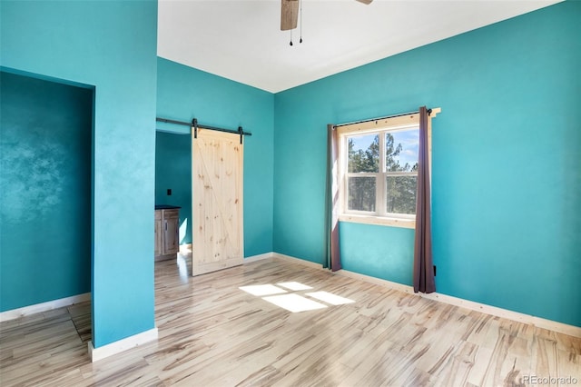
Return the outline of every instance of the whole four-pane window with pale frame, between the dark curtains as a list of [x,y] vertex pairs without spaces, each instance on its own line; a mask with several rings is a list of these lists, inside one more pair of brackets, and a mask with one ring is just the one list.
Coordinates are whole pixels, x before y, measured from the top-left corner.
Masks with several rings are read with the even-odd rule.
[[340,220],[414,227],[419,114],[338,130]]

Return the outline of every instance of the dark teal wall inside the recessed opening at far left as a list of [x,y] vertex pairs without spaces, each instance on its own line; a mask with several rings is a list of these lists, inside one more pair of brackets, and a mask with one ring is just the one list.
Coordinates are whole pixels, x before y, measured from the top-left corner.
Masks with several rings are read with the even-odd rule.
[[88,293],[93,90],[2,72],[0,112],[0,312]]

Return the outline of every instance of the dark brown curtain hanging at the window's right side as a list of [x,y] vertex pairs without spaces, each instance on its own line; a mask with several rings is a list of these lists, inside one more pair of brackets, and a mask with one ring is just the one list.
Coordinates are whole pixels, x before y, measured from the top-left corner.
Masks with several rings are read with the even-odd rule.
[[429,195],[428,110],[419,108],[418,199],[414,249],[414,292],[436,292],[432,260],[432,228]]

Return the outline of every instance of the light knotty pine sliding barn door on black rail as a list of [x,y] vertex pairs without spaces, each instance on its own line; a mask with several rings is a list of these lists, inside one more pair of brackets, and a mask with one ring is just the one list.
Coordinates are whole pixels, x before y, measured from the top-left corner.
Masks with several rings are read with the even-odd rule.
[[243,263],[240,135],[192,135],[192,275]]

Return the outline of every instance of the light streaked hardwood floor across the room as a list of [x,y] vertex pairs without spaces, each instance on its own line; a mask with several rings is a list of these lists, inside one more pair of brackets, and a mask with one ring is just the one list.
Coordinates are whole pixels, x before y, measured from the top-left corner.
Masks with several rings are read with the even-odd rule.
[[[159,340],[99,362],[87,355],[87,303],[0,323],[0,384],[581,385],[579,338],[277,259],[189,270],[183,258],[155,263]],[[239,289],[285,282],[355,303],[291,313]]]

